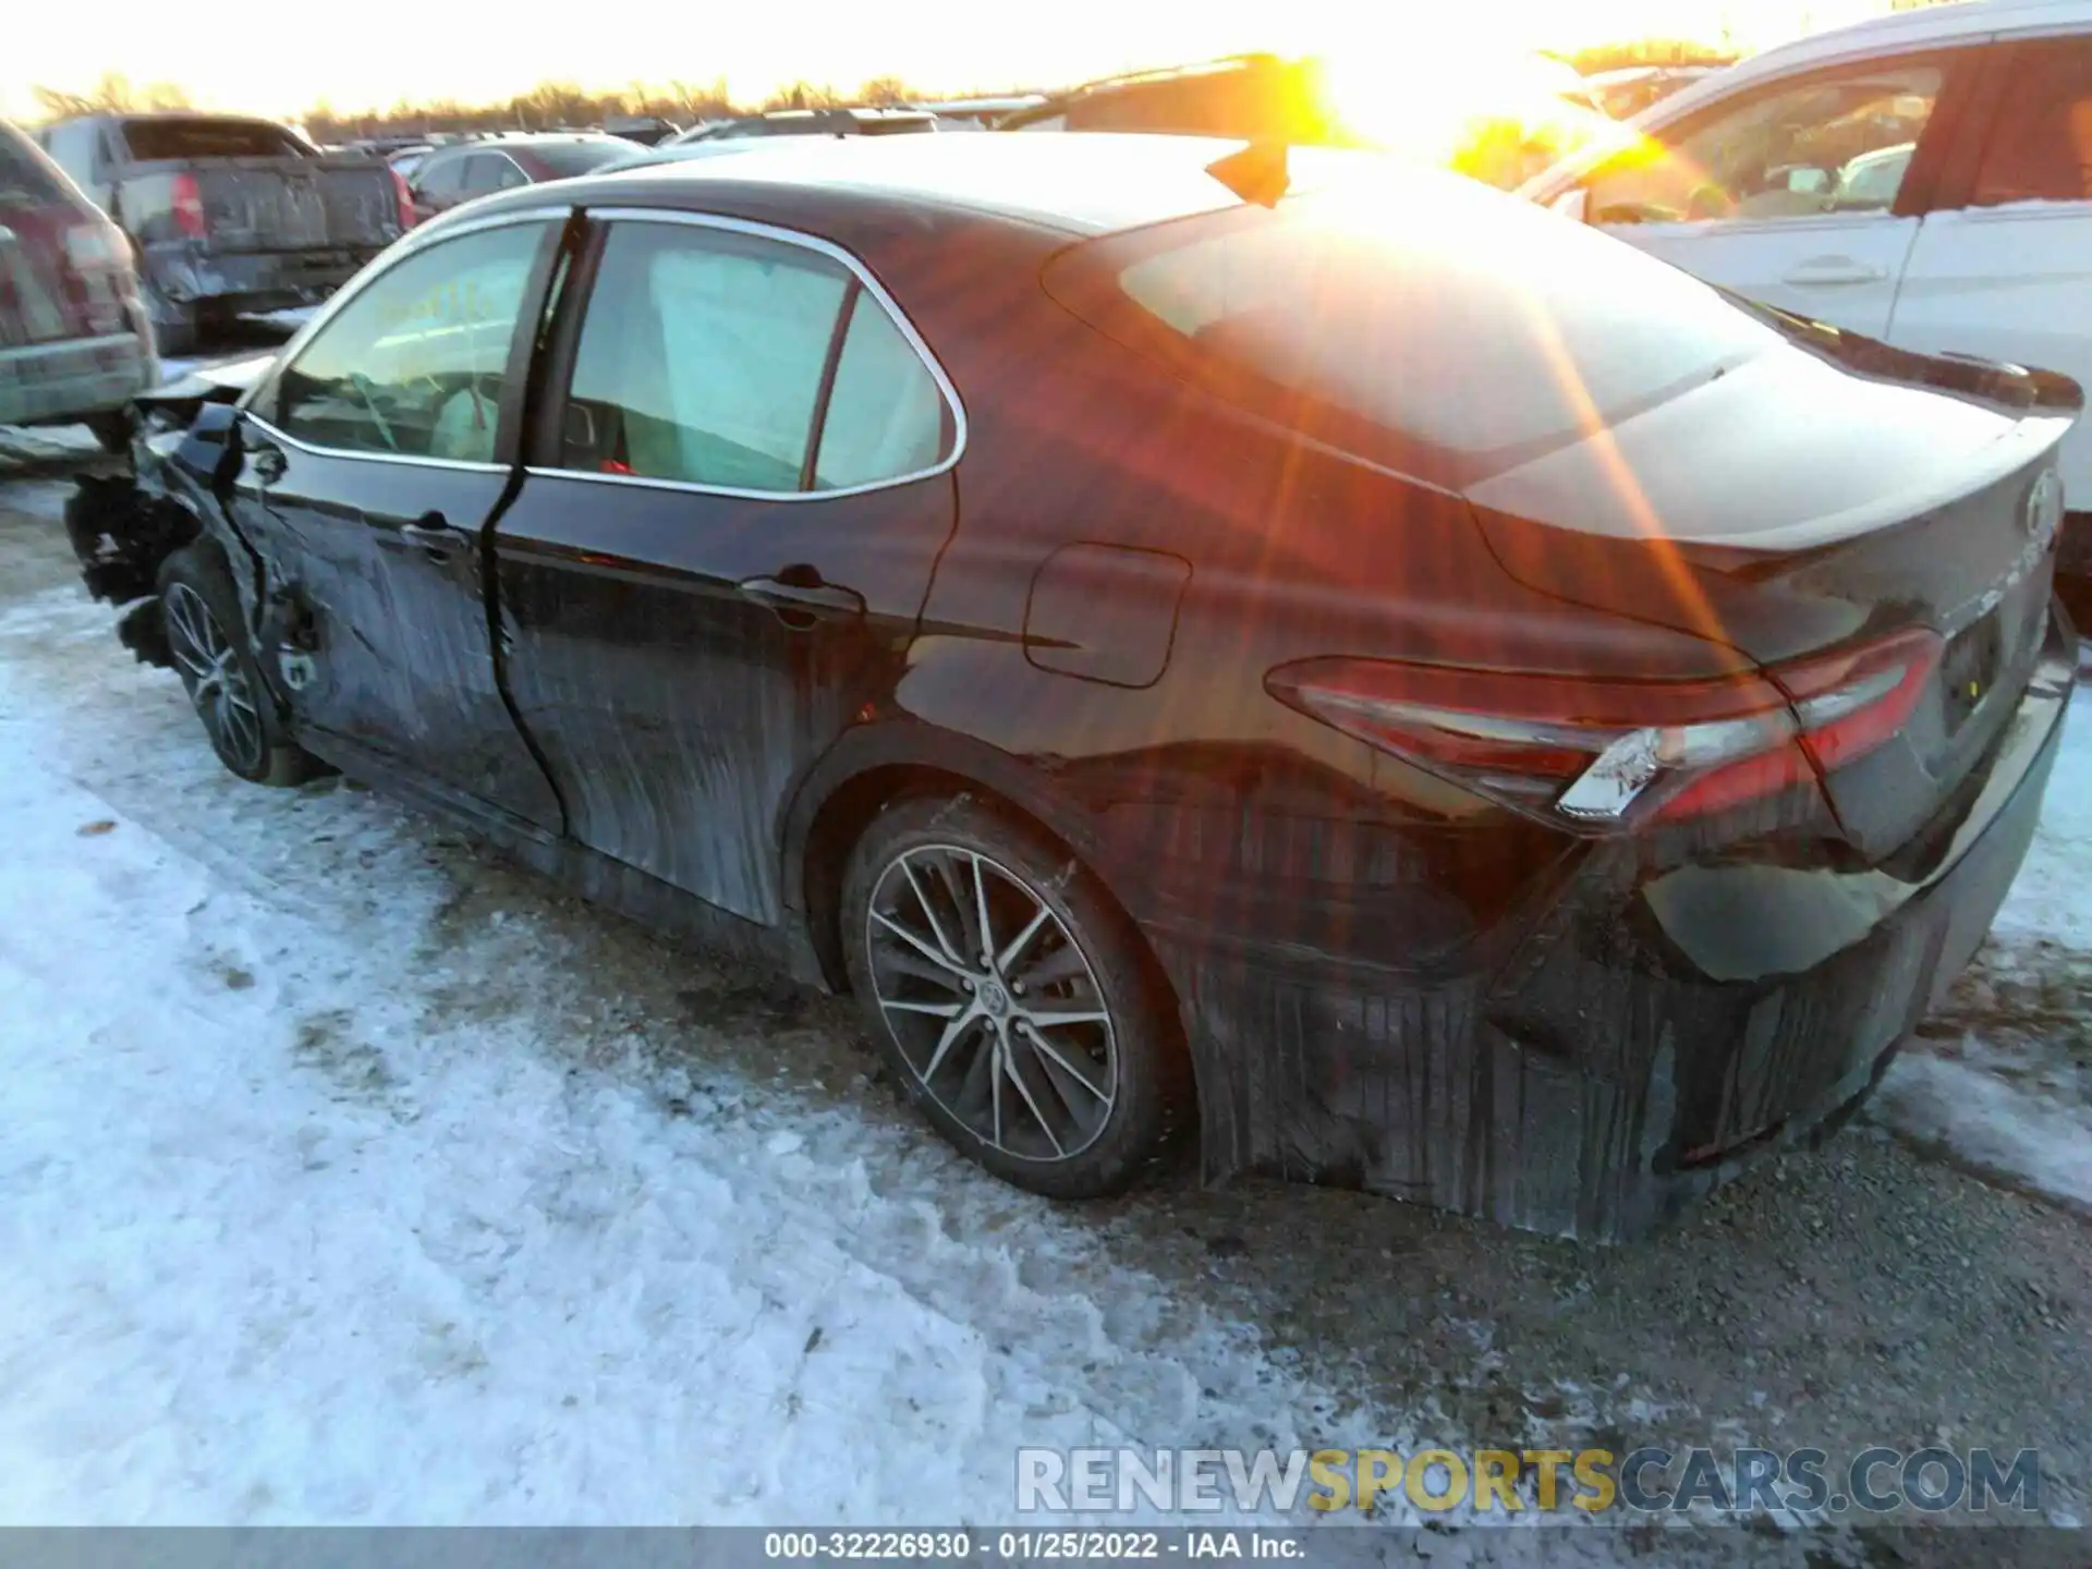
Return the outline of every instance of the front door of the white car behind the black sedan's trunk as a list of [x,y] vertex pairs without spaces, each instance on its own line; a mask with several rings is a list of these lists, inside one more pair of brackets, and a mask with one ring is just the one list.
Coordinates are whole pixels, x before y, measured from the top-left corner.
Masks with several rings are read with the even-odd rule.
[[1584,218],[1749,299],[1883,337],[1977,67],[1977,50],[1948,50],[1747,88],[1653,132],[1655,157],[1598,172]]

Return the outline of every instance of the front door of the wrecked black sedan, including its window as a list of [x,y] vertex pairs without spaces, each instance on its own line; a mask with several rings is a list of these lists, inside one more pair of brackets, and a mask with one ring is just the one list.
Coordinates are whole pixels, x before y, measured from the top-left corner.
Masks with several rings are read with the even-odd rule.
[[339,736],[550,828],[556,797],[496,682],[481,550],[554,243],[529,220],[391,264],[255,389],[226,498],[316,749]]

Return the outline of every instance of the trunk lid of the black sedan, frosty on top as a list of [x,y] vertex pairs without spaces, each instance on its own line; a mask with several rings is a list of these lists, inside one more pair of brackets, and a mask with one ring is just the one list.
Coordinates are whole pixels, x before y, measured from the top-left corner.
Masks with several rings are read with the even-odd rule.
[[1782,665],[1935,634],[1895,738],[1818,770],[1847,839],[1883,860],[1971,782],[2033,672],[2054,450],[2082,395],[1793,331],[1805,351],[1751,358],[1469,498],[1519,582],[1724,642],[1782,686]]

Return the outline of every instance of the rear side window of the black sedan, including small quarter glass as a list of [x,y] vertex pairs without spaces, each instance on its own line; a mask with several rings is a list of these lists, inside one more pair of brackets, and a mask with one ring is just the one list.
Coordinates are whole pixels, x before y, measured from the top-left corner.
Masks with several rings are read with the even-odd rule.
[[787,494],[904,479],[943,444],[935,379],[843,264],[688,224],[609,230],[561,467]]

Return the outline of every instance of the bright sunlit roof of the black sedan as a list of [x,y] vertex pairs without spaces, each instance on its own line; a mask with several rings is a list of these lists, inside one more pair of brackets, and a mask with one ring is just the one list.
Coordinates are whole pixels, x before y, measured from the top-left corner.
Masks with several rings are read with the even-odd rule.
[[[703,205],[709,188],[833,190],[900,205],[958,207],[1015,222],[1109,234],[1234,207],[1241,199],[1207,174],[1230,142],[1205,136],[1100,132],[987,136],[805,138],[759,159],[690,159],[569,182],[575,201]],[[1295,188],[1320,184],[1370,153],[1293,149]],[[540,197],[542,199],[542,197]]]

